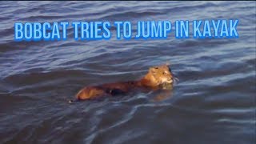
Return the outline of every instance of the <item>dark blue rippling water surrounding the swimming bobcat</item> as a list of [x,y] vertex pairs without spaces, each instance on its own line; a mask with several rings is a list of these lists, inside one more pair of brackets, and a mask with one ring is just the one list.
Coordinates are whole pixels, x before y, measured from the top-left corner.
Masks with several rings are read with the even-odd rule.
[[[0,143],[255,143],[255,2],[1,2]],[[238,18],[238,39],[14,42],[14,22]],[[169,97],[69,104],[171,63]]]

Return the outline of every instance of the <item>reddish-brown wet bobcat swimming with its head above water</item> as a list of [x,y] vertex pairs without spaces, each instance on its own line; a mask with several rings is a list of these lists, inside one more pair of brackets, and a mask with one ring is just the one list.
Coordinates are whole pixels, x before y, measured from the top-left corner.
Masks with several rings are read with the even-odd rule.
[[172,84],[174,76],[169,66],[150,67],[148,73],[138,81],[107,83],[99,86],[87,86],[80,90],[76,95],[78,100],[89,100],[102,96],[113,96],[117,94],[126,94],[134,89],[162,89],[162,85]]

